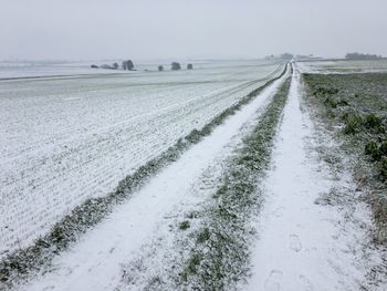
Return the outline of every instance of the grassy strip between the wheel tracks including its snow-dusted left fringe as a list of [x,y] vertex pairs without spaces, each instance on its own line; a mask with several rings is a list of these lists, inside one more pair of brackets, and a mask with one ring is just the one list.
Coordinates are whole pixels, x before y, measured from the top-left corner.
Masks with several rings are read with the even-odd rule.
[[[124,266],[119,290],[232,290],[247,278],[254,235],[250,220],[261,204],[259,180],[270,160],[287,90],[289,80],[226,163],[211,195],[171,224],[176,235],[168,246],[174,251],[153,253],[153,241],[137,261]],[[156,268],[142,273],[135,266]]]

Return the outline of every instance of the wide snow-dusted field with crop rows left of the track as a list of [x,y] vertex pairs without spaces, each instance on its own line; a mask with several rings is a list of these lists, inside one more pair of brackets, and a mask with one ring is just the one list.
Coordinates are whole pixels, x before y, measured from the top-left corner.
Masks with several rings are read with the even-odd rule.
[[[0,256],[30,245],[86,198],[112,191],[283,69],[217,62],[180,72],[0,81]],[[13,76],[66,74],[43,71]]]

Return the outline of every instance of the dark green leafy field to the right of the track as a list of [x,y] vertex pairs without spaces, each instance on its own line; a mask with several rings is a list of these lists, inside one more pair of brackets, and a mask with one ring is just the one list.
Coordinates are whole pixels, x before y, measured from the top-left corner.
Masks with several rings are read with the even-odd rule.
[[369,190],[375,240],[387,243],[387,74],[305,74],[304,81],[336,128],[358,186]]

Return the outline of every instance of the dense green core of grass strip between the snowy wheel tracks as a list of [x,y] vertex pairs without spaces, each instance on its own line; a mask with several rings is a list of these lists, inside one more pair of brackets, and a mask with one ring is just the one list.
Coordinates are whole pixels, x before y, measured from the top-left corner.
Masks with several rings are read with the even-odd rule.
[[194,232],[194,247],[177,279],[182,290],[233,290],[248,276],[251,219],[260,209],[259,180],[271,160],[275,133],[287,100],[287,77],[259,123],[231,159],[208,208]]

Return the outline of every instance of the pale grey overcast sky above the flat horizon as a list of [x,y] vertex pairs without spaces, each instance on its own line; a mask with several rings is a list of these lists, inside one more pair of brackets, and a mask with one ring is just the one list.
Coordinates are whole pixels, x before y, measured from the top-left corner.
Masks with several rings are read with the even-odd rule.
[[386,0],[0,0],[0,60],[387,55]]

